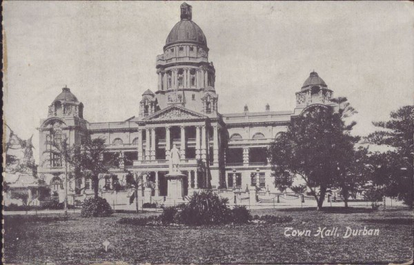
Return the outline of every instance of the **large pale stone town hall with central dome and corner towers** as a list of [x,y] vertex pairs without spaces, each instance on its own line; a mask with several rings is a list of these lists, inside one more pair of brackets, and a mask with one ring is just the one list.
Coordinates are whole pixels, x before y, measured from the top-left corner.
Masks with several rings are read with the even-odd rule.
[[[246,105],[242,112],[221,113],[207,39],[187,3],[181,4],[180,20],[162,50],[155,65],[158,86],[142,94],[135,117],[88,122],[83,118],[88,104],[83,106],[70,88],[62,89],[48,106],[47,118],[40,121],[39,176],[52,190],[61,192],[65,168],[59,156],[47,152],[52,148],[48,143],[67,139],[71,145],[81,144],[90,135],[106,139],[108,150],[125,158],[119,168],[102,177],[102,190],[126,186],[128,173],[145,174],[151,196],[167,196],[168,160],[176,146],[180,170],[186,176],[184,196],[206,188],[219,192],[255,187],[277,192],[266,148],[308,106],[335,105],[330,101],[333,91],[311,72],[302,88],[292,90],[294,110],[273,111],[266,104],[262,112],[250,112]],[[80,193],[93,193],[89,179],[70,182],[69,193],[75,193],[75,186]]]

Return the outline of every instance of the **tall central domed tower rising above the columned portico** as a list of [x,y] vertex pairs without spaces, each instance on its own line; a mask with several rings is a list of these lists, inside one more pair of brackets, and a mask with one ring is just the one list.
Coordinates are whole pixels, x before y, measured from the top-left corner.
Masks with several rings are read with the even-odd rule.
[[157,56],[158,104],[217,115],[215,68],[208,61],[206,36],[192,20],[192,6],[182,3],[180,9],[181,20],[168,34],[164,53]]

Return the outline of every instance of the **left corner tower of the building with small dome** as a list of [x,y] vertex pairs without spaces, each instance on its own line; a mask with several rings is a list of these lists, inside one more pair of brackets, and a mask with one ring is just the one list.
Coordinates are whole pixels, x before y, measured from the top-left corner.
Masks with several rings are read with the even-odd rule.
[[[41,119],[39,127],[39,152],[41,170],[44,168],[61,168],[62,161],[47,150],[55,144],[68,141],[68,144],[81,144],[87,133],[87,123],[83,119],[83,104],[67,87],[52,101],[48,107],[48,118]],[[50,170],[48,170],[50,171]]]

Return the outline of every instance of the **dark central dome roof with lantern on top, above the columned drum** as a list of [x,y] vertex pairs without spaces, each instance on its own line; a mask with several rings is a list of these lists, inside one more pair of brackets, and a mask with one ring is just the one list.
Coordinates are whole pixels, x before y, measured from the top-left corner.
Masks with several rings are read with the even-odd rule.
[[170,31],[166,39],[166,46],[175,43],[195,43],[207,46],[206,36],[203,30],[192,19],[192,7],[188,3],[181,4],[181,21]]

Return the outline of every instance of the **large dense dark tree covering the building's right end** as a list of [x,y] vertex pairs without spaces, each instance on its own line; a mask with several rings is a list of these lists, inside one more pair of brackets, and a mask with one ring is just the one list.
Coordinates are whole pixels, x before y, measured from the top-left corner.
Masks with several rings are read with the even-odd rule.
[[340,169],[359,139],[349,134],[355,122],[346,125],[343,115],[328,106],[311,106],[290,122],[268,148],[277,188],[290,187],[295,177],[301,177],[315,197],[317,209],[322,209],[326,190],[337,183]]

